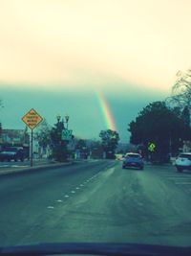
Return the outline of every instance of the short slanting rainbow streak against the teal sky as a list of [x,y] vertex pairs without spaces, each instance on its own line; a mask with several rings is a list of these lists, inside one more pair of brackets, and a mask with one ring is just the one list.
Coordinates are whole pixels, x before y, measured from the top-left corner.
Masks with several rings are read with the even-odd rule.
[[112,111],[110,109],[110,106],[108,105],[108,102],[105,96],[103,95],[102,92],[97,92],[96,94],[97,94],[98,103],[102,111],[106,128],[117,130],[114,116],[112,115]]

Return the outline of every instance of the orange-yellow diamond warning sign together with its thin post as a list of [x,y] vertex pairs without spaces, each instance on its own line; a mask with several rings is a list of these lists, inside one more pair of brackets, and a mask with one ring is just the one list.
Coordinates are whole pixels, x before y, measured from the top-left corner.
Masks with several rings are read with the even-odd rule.
[[33,166],[33,129],[36,128],[43,118],[32,108],[26,115],[23,116],[22,121],[32,130],[31,136],[31,167]]

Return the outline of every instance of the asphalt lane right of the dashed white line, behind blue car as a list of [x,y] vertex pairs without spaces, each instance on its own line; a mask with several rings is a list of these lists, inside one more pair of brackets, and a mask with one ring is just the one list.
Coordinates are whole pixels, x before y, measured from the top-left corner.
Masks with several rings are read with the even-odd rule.
[[49,219],[40,222],[38,232],[31,229],[22,243],[190,245],[190,205],[188,195],[172,182],[166,185],[151,167],[122,170],[117,164],[50,209]]

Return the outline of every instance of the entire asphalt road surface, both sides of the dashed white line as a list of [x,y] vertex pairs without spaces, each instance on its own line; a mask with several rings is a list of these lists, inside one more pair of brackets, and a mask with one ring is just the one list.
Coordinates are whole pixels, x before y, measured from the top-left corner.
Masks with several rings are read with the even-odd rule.
[[0,177],[0,245],[191,245],[191,173],[91,161]]

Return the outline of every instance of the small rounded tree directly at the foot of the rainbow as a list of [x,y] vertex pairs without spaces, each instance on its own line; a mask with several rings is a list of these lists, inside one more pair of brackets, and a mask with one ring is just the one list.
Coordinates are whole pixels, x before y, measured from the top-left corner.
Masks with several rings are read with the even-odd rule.
[[101,130],[99,133],[103,151],[106,153],[106,158],[115,158],[119,135],[116,130],[107,129]]

